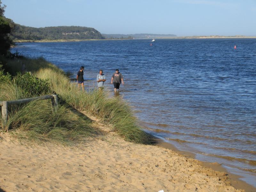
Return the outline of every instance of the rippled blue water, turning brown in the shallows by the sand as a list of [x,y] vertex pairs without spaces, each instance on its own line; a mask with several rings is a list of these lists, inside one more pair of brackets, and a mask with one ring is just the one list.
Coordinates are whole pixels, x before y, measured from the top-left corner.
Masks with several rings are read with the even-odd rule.
[[96,86],[102,69],[112,89],[111,75],[119,68],[125,83],[120,94],[147,132],[200,160],[250,172],[245,180],[251,183],[256,179],[256,39],[150,43],[20,43],[11,51],[44,56],[73,78],[83,65],[86,87]]

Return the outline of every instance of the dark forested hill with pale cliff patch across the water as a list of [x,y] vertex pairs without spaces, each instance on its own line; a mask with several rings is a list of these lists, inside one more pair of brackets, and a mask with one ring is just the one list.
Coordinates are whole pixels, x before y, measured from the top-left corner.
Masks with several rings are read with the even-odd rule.
[[99,31],[89,27],[59,26],[59,27],[26,27],[15,24],[10,37],[12,40],[58,40],[58,39],[105,39]]

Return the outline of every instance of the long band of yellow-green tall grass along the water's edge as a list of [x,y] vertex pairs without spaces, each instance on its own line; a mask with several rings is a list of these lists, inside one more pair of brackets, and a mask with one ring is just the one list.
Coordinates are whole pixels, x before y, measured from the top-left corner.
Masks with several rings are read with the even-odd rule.
[[60,71],[40,69],[36,76],[49,79],[52,89],[77,110],[87,111],[112,124],[113,130],[125,140],[148,143],[148,136],[137,125],[130,106],[120,97],[110,98],[107,92],[95,89],[82,92]]

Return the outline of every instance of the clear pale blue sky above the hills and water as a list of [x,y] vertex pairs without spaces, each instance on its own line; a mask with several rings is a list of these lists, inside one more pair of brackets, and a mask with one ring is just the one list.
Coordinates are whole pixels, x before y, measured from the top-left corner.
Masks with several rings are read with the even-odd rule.
[[85,26],[101,33],[256,36],[256,0],[2,0],[31,27]]

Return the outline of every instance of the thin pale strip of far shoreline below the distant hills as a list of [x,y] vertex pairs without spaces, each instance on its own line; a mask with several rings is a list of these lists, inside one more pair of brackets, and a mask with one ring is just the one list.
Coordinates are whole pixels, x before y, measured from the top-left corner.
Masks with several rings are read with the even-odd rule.
[[[251,39],[256,36],[178,36],[178,37],[157,37],[155,39]],[[150,38],[141,38],[150,39]],[[130,39],[57,39],[57,40],[14,40],[14,43],[43,43],[43,42],[74,42],[74,41],[106,41],[106,40],[130,40]],[[136,40],[136,39],[134,39]]]

